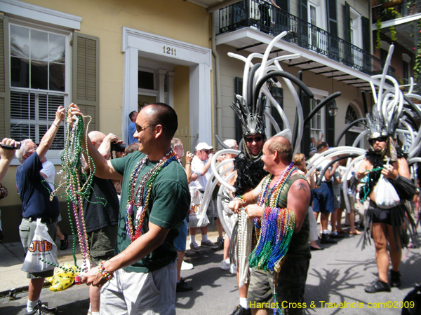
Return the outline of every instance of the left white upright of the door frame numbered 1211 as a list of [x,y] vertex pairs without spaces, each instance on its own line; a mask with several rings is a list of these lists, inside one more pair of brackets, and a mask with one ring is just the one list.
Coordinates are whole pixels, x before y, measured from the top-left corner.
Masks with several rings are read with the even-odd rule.
[[121,134],[124,141],[128,141],[127,128],[131,123],[128,114],[138,110],[138,57],[138,49],[126,48],[123,70],[123,110],[121,111]]

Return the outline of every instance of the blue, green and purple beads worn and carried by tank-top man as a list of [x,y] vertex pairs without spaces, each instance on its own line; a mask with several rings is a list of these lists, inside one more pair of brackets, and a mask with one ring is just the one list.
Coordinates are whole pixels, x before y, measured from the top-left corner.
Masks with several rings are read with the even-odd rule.
[[[281,270],[283,258],[288,251],[290,240],[295,229],[295,214],[290,209],[278,207],[279,198],[286,182],[296,168],[291,163],[279,176],[274,187],[269,188],[273,175],[268,175],[262,184],[258,205],[264,207],[260,222],[255,220],[258,232],[258,244],[249,255],[250,267],[265,271],[274,271],[274,300],[276,305],[277,274]],[[260,224],[259,224],[260,223]],[[274,308],[281,313],[281,310]]]

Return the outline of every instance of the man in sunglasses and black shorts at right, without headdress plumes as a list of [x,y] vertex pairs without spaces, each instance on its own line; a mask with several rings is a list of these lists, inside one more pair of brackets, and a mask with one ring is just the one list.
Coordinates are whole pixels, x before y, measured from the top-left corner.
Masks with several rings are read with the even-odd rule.
[[[386,179],[395,180],[399,177],[396,149],[391,137],[385,132],[373,132],[368,139],[371,148],[366,153],[366,158],[361,162],[355,177],[361,181],[368,176],[368,183],[361,188],[360,197],[368,195],[370,198],[367,210],[370,221],[373,223],[371,235],[375,243],[375,258],[379,279],[366,288],[367,293],[381,291],[390,292],[390,286],[400,286],[399,265],[401,262],[401,244],[395,239],[396,232],[392,226],[392,214],[400,211],[399,207],[392,209],[380,209],[375,200],[375,186],[383,175]],[[387,163],[389,162],[389,163]],[[366,221],[366,224],[370,222]],[[392,260],[392,281],[389,285],[389,254],[387,253],[387,242],[389,242],[390,260]]]

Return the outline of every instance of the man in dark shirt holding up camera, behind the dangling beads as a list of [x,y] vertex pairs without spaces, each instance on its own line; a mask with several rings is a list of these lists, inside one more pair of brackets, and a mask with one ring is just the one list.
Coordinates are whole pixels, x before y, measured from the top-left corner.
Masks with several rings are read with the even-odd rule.
[[[112,155],[112,148],[119,149],[123,145],[118,142],[119,139],[115,134],[106,136],[102,132],[93,131],[89,132],[88,137],[106,160]],[[85,163],[84,168],[86,172],[89,172],[88,163]],[[98,266],[100,261],[114,256],[117,241],[119,198],[112,181],[93,176],[91,193],[86,200],[83,200],[83,209],[91,259],[93,265]],[[89,299],[91,300],[91,314],[99,314],[100,288],[98,286],[89,286]]]

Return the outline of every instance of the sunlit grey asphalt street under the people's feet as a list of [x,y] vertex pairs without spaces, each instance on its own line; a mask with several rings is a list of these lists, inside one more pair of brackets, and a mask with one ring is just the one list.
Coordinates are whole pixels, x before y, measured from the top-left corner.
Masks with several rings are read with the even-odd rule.
[[[392,288],[391,293],[368,294],[364,288],[377,279],[374,247],[368,246],[361,251],[356,248],[358,241],[359,236],[347,236],[323,251],[312,251],[305,292],[306,314],[401,314],[399,302],[421,282],[421,249],[403,251],[401,288]],[[199,254],[189,251],[187,260],[194,264],[194,269],[182,271],[182,276],[194,290],[177,293],[177,313],[231,314],[238,304],[238,291],[235,275],[220,269],[222,250]],[[84,315],[88,310],[85,285],[72,286],[58,293],[46,288],[41,297],[58,307],[60,315]],[[0,314],[23,315],[26,302],[27,293],[18,295],[18,300],[1,299]],[[341,306],[339,303],[346,304]]]

